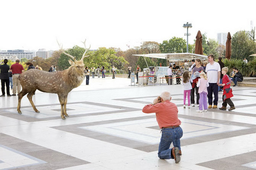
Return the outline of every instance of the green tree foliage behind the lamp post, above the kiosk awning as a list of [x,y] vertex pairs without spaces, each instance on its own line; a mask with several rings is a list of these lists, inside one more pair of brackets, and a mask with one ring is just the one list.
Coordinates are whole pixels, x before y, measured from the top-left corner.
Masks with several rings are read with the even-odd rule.
[[[179,37],[172,37],[170,40],[164,40],[159,45],[161,53],[186,53],[186,40]],[[188,52],[192,52],[192,45],[188,45]]]

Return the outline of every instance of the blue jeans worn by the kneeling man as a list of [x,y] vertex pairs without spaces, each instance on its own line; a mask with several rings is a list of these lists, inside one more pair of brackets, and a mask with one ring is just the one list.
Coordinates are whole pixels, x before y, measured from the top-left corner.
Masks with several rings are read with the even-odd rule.
[[180,150],[180,138],[183,136],[183,130],[181,127],[177,128],[162,128],[162,137],[158,149],[158,157],[160,159],[174,159],[172,155],[172,149],[170,145],[173,142],[173,146]]

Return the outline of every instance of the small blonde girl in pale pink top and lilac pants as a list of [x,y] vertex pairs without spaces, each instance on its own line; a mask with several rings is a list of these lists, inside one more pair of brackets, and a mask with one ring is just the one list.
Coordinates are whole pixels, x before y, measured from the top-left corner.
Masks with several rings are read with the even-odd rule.
[[[199,87],[198,88],[198,93],[199,93],[199,110],[197,110],[196,112],[207,112],[207,87],[209,87],[209,83],[207,80],[207,75],[204,72],[200,73],[200,78],[198,79],[198,82],[196,82],[196,86]],[[204,106],[204,110],[203,110],[203,106]]]

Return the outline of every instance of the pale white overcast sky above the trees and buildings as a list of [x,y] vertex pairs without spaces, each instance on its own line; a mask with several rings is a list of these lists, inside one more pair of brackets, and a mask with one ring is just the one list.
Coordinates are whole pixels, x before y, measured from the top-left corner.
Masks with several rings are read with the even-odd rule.
[[91,50],[127,50],[144,41],[162,43],[172,37],[193,43],[198,30],[217,33],[256,26],[256,1],[251,0],[8,0],[0,1],[0,50],[58,50],[74,45]]

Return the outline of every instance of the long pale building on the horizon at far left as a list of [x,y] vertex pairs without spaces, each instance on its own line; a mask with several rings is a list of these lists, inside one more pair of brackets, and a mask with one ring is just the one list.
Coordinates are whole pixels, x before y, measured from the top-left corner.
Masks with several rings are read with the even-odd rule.
[[[22,58],[26,58],[26,59],[32,59],[33,58],[33,52],[31,51],[26,51],[26,50],[7,50],[7,51],[0,51],[0,56],[1,58],[6,58],[8,59],[8,57],[10,59],[13,59],[15,56],[15,59],[22,59]],[[15,60],[14,59],[14,60]]]

